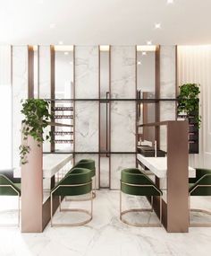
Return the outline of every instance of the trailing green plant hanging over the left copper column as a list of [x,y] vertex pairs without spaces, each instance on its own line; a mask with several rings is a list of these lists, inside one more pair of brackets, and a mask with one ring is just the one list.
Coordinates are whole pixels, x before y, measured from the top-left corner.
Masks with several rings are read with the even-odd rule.
[[25,164],[28,163],[27,154],[30,153],[30,146],[27,146],[28,136],[33,137],[38,142],[38,146],[41,146],[45,140],[52,141],[52,132],[48,131],[44,137],[44,129],[50,124],[53,115],[49,111],[50,102],[46,102],[45,100],[27,99],[21,101],[21,103],[21,113],[25,117],[22,120],[21,133],[23,140],[26,141],[26,145],[21,145],[19,149],[21,164]]

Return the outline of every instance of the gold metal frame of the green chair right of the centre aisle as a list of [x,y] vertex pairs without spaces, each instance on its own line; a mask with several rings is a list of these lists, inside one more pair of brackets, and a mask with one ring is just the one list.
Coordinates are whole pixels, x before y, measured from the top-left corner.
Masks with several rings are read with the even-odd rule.
[[[132,187],[153,187],[157,190],[155,185],[139,185],[139,184],[131,184],[131,183],[126,183],[126,182],[120,181],[121,189],[122,189],[122,184],[130,185]],[[148,226],[148,227],[149,226],[151,226],[151,227],[162,226],[162,193],[159,190],[157,190],[157,191],[160,194],[160,216],[159,216],[160,223],[158,223],[158,224],[140,224],[140,223],[131,223],[131,222],[123,219],[122,218],[123,215],[131,213],[131,212],[148,212],[148,211],[152,212],[153,211],[153,197],[151,196],[151,206],[152,206],[151,208],[131,208],[131,209],[122,211],[122,190],[120,190],[120,220],[127,225],[133,225],[133,226]]]

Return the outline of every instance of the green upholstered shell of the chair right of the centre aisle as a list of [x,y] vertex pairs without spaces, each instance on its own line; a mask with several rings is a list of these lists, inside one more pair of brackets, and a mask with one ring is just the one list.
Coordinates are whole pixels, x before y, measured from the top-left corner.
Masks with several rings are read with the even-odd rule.
[[140,172],[138,168],[122,170],[121,181],[121,190],[126,194],[134,196],[160,196],[162,194],[162,191],[156,187],[156,184],[147,175]]

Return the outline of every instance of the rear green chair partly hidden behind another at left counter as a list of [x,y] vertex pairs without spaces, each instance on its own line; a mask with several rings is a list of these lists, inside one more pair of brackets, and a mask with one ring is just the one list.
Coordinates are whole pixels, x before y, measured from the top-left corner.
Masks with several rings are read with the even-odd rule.
[[[85,168],[85,169],[91,170],[91,177],[92,177],[92,179],[95,177],[95,182],[94,182],[95,186],[94,186],[94,191],[92,192],[93,199],[95,199],[96,198],[96,166],[95,166],[95,161],[92,160],[92,159],[81,159],[78,163],[76,163],[72,167],[72,169],[69,172],[67,172],[67,175],[69,173],[71,173],[72,170],[74,168],[76,168],[76,167],[77,168],[79,167],[79,168]],[[81,200],[86,200],[86,199],[81,199]]]

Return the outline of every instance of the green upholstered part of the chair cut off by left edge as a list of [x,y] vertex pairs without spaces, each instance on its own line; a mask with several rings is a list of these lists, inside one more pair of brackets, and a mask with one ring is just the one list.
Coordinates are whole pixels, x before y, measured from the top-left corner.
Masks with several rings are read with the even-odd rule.
[[0,196],[17,196],[18,192],[21,195],[21,184],[13,183],[4,174],[0,174]]

